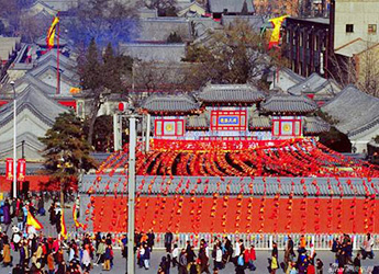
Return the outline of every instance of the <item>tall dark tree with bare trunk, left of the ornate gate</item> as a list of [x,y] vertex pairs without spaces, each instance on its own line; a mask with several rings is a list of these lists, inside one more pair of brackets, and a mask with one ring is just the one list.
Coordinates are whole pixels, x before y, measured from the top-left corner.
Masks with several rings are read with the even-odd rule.
[[125,91],[123,75],[132,70],[133,60],[125,56],[115,56],[112,45],[108,44],[101,55],[94,39],[91,41],[86,53],[78,58],[78,73],[83,95],[90,99],[90,114],[87,117],[87,140],[93,141],[94,123],[101,105],[111,93]]

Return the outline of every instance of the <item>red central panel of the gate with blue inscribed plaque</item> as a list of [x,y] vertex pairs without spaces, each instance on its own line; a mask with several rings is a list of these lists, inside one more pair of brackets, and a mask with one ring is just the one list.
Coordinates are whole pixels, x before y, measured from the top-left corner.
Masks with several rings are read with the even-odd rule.
[[211,130],[246,132],[246,111],[212,111]]

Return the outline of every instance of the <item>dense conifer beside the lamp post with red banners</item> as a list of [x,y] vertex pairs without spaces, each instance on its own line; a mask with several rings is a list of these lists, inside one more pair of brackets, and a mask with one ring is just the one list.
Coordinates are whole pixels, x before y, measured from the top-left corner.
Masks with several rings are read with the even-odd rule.
[[45,137],[38,138],[44,145],[44,165],[51,182],[60,182],[67,190],[77,181],[81,171],[96,168],[90,157],[91,147],[86,140],[83,124],[74,113],[60,114]]

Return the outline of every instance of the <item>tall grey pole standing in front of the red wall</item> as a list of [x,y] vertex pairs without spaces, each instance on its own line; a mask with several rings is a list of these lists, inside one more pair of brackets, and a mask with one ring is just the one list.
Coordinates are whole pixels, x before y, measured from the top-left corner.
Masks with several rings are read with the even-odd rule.
[[127,270],[134,274],[134,222],[135,222],[135,148],[136,148],[136,116],[129,117],[129,183],[127,183]]

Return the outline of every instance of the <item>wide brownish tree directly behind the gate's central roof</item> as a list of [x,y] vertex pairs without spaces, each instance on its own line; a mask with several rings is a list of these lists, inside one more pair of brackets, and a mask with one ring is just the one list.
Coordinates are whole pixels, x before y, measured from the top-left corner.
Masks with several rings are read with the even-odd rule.
[[267,41],[245,21],[236,21],[213,33],[207,45],[192,45],[185,61],[196,62],[192,81],[246,83],[255,81],[275,65]]

